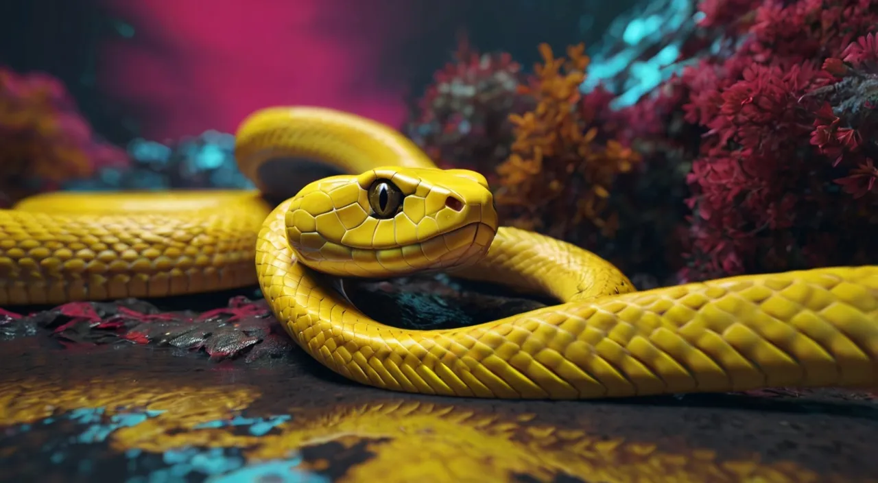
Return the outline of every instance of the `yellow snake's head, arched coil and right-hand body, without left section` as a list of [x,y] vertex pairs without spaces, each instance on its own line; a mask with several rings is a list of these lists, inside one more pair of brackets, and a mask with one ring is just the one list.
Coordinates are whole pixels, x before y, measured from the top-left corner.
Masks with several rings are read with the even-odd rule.
[[[585,250],[497,227],[484,177],[435,169],[386,126],[320,109],[272,108],[244,121],[237,154],[256,160],[249,166],[318,158],[354,173],[308,184],[278,205],[259,234],[256,271],[293,339],[363,384],[585,399],[878,382],[878,267],[636,292]],[[388,182],[398,203],[376,195]],[[404,330],[371,320],[315,275],[424,269],[455,270],[562,303],[470,328]]]

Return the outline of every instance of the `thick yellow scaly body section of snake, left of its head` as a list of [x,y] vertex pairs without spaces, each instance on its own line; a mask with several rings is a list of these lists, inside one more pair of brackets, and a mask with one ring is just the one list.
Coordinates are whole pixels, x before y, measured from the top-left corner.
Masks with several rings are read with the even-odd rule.
[[248,191],[209,198],[62,193],[0,211],[0,306],[255,283],[255,237],[268,207]]

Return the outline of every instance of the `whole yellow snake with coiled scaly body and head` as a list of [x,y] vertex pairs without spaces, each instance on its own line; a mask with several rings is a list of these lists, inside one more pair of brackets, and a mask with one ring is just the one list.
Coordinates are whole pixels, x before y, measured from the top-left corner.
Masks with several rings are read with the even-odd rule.
[[[412,393],[587,399],[878,382],[878,267],[637,292],[586,250],[498,227],[485,177],[437,169],[369,119],[265,109],[242,123],[235,155],[258,191],[52,194],[0,213],[0,306],[258,280],[277,320],[321,364]],[[297,191],[273,210],[260,197]],[[371,320],[320,275],[420,270],[560,304],[408,330]]]

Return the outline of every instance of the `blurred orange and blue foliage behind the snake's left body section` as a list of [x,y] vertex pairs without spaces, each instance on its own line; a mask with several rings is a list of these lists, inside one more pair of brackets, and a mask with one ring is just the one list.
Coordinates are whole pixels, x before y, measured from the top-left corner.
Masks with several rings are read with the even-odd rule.
[[95,134],[64,85],[0,69],[0,201],[55,190],[251,188],[234,161],[234,135],[207,131],[119,148]]

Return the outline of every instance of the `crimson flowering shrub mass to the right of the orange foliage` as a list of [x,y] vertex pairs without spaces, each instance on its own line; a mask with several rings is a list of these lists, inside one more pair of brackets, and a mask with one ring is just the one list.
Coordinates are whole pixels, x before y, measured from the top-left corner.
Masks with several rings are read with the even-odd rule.
[[[681,76],[618,112],[600,89],[582,99],[601,133],[644,156],[612,191],[623,242],[588,248],[660,284],[874,262],[878,5],[707,0],[700,11]],[[656,248],[665,263],[650,267]]]

